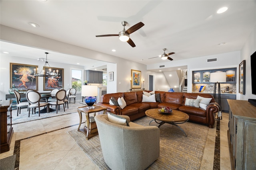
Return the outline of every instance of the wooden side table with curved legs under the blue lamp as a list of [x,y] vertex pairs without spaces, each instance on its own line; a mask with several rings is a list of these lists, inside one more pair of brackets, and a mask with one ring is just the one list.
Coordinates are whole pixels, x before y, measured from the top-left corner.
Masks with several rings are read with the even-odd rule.
[[[103,111],[103,114],[106,114],[107,108],[102,106],[95,106],[94,109],[88,109],[87,106],[77,107],[77,112],[80,117],[80,122],[77,131],[86,134],[86,140],[90,139],[91,137],[94,137],[95,135],[98,135],[98,129],[94,121],[94,116],[96,115],[96,112],[100,111]],[[82,112],[86,115],[86,124],[84,126],[84,131],[80,130],[80,126],[82,123]],[[90,113],[94,113],[94,116],[90,117]]]

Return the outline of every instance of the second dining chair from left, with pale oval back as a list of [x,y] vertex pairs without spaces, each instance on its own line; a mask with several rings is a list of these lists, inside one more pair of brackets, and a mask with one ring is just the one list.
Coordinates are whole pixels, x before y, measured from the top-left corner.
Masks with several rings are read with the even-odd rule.
[[38,107],[38,115],[40,117],[40,107],[47,107],[47,113],[49,113],[49,105],[48,102],[40,102],[41,94],[37,91],[30,91],[27,93],[27,99],[29,102],[28,105],[28,117],[30,117],[30,108],[32,108],[32,113],[34,109],[34,113],[36,113],[36,108]]

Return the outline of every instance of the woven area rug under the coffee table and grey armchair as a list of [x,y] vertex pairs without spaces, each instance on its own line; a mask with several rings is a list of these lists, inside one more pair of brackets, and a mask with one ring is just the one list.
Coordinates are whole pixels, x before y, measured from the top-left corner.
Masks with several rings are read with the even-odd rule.
[[[134,123],[148,126],[150,120],[150,117],[143,117]],[[153,121],[150,126],[158,124]],[[180,127],[188,137],[173,125],[166,123],[160,127],[160,157],[147,168],[148,170],[200,169],[209,127],[194,122],[180,124]],[[104,162],[98,135],[86,141],[85,135],[77,130],[69,131],[68,134],[101,170],[110,169]]]

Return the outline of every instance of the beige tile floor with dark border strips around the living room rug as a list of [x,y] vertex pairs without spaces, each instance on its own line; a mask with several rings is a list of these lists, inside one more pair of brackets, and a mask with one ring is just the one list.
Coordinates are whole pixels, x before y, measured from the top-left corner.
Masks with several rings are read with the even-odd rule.
[[[0,154],[0,158],[13,155],[15,141],[24,139],[20,142],[20,170],[98,170],[99,168],[67,133],[77,129],[77,123],[79,123],[79,116],[72,113],[13,125],[14,134],[10,151]],[[71,125],[76,126],[68,127]],[[56,129],[60,130],[54,131]],[[227,130],[228,113],[223,113],[223,119],[220,120],[221,170],[231,169]],[[46,134],[35,136],[42,133]],[[209,129],[200,170],[213,169],[215,136],[216,123],[215,128]]]

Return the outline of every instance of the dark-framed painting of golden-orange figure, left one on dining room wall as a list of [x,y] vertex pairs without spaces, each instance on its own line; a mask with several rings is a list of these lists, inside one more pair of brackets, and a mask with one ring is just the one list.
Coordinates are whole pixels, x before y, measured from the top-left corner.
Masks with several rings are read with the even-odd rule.
[[19,91],[37,90],[37,78],[34,76],[38,66],[10,63],[10,87],[13,85]]

